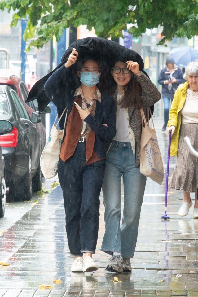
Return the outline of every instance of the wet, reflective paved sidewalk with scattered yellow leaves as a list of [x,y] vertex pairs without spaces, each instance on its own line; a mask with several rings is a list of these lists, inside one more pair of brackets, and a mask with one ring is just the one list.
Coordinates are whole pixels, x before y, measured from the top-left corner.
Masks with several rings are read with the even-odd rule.
[[[165,210],[168,135],[161,132],[160,118],[155,118],[154,123],[165,179],[161,186],[147,179],[138,241],[131,259],[132,273],[105,272],[110,256],[100,251],[104,233],[102,192],[99,238],[93,256],[99,270],[71,273],[73,256],[68,249],[62,191],[57,186],[0,234],[0,262],[9,264],[0,266],[0,297],[198,296],[198,220],[192,218],[193,207],[187,216],[178,216],[183,194],[172,189],[168,190],[170,219],[161,219]],[[169,177],[175,163],[172,157]],[[118,282],[113,281],[115,276]],[[62,282],[53,282],[59,279]],[[42,289],[39,284],[49,288]]]

